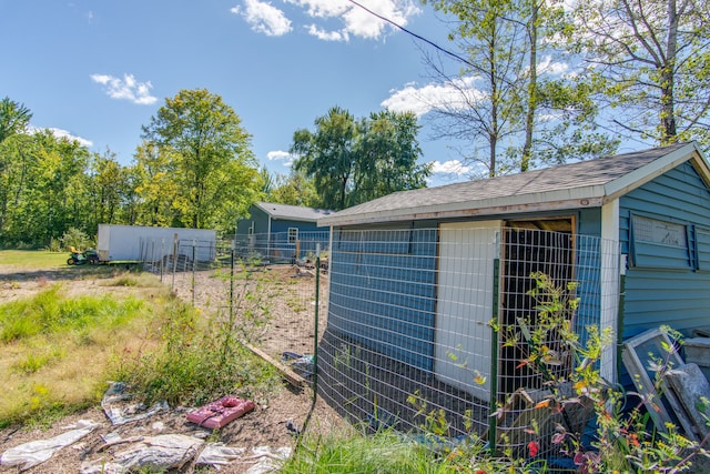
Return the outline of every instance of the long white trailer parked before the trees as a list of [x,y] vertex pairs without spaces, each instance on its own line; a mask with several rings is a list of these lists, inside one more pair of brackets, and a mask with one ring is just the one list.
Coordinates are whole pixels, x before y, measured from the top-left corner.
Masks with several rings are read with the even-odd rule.
[[99,224],[97,252],[101,262],[211,262],[216,253],[216,231]]

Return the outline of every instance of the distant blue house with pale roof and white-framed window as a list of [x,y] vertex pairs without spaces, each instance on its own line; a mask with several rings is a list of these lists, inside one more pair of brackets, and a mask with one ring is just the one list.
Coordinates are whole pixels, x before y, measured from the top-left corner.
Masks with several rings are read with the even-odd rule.
[[325,250],[329,231],[318,229],[318,219],[332,211],[300,205],[257,202],[250,208],[250,216],[236,224],[236,246],[256,252],[270,261],[291,261],[316,245]]

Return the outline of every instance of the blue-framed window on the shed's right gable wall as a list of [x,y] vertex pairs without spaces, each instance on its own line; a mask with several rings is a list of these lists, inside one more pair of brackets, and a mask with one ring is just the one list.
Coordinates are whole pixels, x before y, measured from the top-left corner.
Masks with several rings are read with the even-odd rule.
[[694,266],[688,228],[676,222],[631,215],[633,266],[688,269]]

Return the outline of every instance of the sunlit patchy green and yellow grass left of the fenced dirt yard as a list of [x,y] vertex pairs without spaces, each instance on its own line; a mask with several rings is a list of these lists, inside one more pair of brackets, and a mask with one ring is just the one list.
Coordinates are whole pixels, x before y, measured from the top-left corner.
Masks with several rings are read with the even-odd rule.
[[[0,256],[9,253],[42,252]],[[24,263],[18,272],[28,271]],[[34,265],[38,279],[51,270]],[[97,405],[109,381],[128,383],[136,399],[171,404],[224,393],[267,399],[281,385],[275,369],[239,344],[226,322],[180,301],[155,275],[123,265],[64,268],[64,283],[0,303],[0,428],[47,425]]]

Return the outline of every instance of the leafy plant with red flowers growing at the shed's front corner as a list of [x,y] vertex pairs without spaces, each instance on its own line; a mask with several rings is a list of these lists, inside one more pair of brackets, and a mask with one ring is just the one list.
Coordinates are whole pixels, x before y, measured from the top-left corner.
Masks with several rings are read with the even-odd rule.
[[[613,334],[608,327],[591,325],[581,340],[574,331],[577,284],[560,286],[542,273],[531,278],[536,285],[528,294],[537,302],[536,313],[519,319],[504,335],[504,345],[516,346],[521,354],[518,369],[532,370],[546,392],[529,414],[527,432],[532,440],[527,447],[535,447],[535,454],[541,446],[556,448],[581,473],[680,472],[690,466],[694,454],[707,455],[700,443],[688,440],[673,425],[666,426],[665,433],[653,430],[642,409],[643,399],[652,394],[625,393],[602,379],[601,355],[613,343]],[[680,336],[669,327],[663,331]],[[662,392],[662,379],[672,370],[672,351],[674,346],[666,347],[667,356],[652,361],[649,367],[656,372],[658,393]],[[629,407],[633,397],[638,403]],[[495,415],[505,416],[506,406],[499,406]],[[555,422],[542,430],[539,421],[550,416]],[[590,426],[592,436],[586,433]]]

